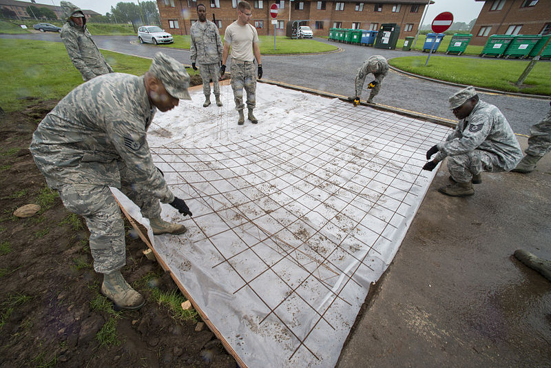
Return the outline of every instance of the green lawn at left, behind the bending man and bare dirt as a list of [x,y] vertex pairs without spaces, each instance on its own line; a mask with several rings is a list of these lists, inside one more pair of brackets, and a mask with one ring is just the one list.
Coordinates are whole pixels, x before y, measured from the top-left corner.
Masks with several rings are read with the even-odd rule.
[[[63,43],[0,39],[0,106],[12,112],[28,105],[25,97],[62,99],[83,83]],[[102,51],[116,72],[141,75],[151,60]],[[191,74],[191,73],[190,73]]]

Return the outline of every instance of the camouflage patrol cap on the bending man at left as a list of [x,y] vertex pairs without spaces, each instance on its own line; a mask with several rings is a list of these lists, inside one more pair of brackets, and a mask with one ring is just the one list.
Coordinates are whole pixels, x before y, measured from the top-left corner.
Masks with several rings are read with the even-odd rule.
[[167,57],[162,52],[157,52],[153,58],[149,72],[163,82],[165,90],[171,96],[180,100],[191,100],[191,96],[187,92],[189,75],[185,71],[184,65],[171,57]]

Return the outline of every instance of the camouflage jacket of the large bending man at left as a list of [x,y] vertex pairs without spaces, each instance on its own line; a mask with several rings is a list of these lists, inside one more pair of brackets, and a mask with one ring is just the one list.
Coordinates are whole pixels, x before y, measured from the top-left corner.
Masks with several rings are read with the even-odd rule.
[[98,76],[72,90],[45,116],[32,135],[30,151],[50,187],[120,188],[118,161],[123,161],[139,178],[136,192],[170,203],[174,194],[153,164],[146,141],[155,112],[143,76]]

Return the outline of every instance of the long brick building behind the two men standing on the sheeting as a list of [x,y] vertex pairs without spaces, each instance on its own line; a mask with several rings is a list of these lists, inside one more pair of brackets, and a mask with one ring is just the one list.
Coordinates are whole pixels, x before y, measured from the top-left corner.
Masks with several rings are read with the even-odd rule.
[[[259,35],[284,35],[289,21],[309,25],[315,36],[328,36],[330,28],[378,30],[381,23],[397,23],[400,38],[415,36],[425,6],[432,0],[409,1],[301,1],[251,0],[253,16],[250,23]],[[172,34],[189,34],[191,24],[197,21],[196,6],[207,6],[207,19],[214,21],[224,34],[226,27],[237,19],[238,0],[157,0],[162,27]],[[271,24],[269,14],[273,3],[279,6],[277,23]]]

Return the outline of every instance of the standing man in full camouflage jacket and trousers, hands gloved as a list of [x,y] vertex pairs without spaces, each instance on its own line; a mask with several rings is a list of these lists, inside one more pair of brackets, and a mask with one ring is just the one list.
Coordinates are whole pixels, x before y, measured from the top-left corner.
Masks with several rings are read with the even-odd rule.
[[216,24],[207,20],[207,8],[203,4],[197,6],[197,15],[199,21],[191,25],[191,66],[197,70],[196,63],[199,64],[199,70],[202,79],[202,92],[205,94],[206,108],[211,104],[211,85],[214,86],[214,97],[216,105],[222,106],[220,101],[220,85],[218,84],[218,68],[222,61],[222,39]]

